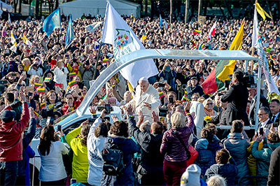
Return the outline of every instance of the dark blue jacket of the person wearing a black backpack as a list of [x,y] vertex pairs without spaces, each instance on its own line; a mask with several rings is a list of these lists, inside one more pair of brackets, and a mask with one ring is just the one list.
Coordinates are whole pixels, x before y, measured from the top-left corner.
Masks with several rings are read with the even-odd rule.
[[[109,143],[109,138],[113,139],[113,143]],[[132,156],[135,152],[140,150],[131,138],[124,138],[121,136],[114,136],[106,138],[104,148],[111,148],[117,145],[119,150],[123,151],[123,164],[125,164],[125,171],[122,176],[108,176],[102,173],[102,185],[134,185],[134,173],[132,169]]]

